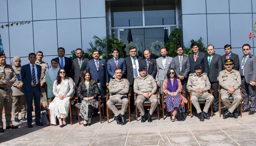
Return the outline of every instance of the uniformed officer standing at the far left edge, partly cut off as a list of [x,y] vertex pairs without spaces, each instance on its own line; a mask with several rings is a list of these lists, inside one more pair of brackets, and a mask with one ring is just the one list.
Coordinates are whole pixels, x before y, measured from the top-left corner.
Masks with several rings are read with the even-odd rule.
[[7,129],[16,129],[18,126],[12,125],[12,90],[8,89],[16,80],[16,75],[11,65],[5,64],[4,51],[0,52],[0,132],[4,132],[2,112],[5,110],[5,123]]

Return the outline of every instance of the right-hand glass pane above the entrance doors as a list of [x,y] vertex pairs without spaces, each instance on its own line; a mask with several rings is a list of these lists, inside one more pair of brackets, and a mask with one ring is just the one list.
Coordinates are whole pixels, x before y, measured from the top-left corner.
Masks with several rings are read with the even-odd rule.
[[144,6],[145,26],[175,25],[175,5]]

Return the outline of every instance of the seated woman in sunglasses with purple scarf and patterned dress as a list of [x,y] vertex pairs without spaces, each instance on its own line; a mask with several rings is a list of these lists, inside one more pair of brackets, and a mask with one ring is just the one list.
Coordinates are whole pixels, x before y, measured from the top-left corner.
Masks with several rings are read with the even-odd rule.
[[163,81],[163,92],[166,94],[164,98],[166,100],[167,110],[171,113],[171,120],[174,122],[178,108],[183,106],[184,102],[187,103],[188,100],[180,93],[182,91],[182,84],[180,79],[176,78],[176,72],[173,68],[168,70],[167,77]]

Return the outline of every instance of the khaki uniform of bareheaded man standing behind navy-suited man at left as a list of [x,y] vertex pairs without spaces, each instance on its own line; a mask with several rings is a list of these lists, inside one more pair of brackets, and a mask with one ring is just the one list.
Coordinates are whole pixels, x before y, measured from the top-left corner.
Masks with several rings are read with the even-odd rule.
[[40,82],[44,83],[44,85],[41,87],[41,99],[44,98],[46,113],[48,113],[47,85],[45,83],[45,81],[46,81],[45,74],[46,74],[46,70],[48,70],[49,66],[48,66],[48,63],[46,63],[44,61],[42,61],[42,62],[36,61],[35,64],[42,66]]

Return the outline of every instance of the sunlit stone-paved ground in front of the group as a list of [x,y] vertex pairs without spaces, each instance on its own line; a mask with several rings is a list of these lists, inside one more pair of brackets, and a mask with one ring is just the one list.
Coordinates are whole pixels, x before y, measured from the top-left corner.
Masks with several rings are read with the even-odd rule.
[[[73,124],[60,128],[59,126],[37,126],[27,128],[25,122],[13,122],[18,129],[4,129],[0,133],[1,146],[253,146],[256,145],[256,114],[243,113],[238,119],[219,117],[218,112],[210,120],[200,122],[196,116],[188,116],[184,122],[170,121],[170,115],[165,120],[160,116],[153,122],[136,121],[135,112],[131,122],[123,126],[110,123],[99,116],[92,118],[91,126],[79,125],[73,109]],[[208,113],[210,114],[210,113]],[[128,117],[128,114],[126,115]],[[4,114],[3,114],[4,119]],[[5,128],[5,121],[4,128]],[[33,120],[33,122],[35,122]]]

